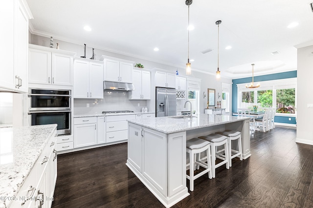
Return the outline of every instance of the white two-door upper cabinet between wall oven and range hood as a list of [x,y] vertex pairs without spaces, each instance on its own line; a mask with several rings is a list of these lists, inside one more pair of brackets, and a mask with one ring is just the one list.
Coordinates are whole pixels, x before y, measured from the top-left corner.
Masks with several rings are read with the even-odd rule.
[[103,99],[103,62],[74,61],[74,98]]

